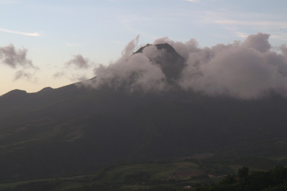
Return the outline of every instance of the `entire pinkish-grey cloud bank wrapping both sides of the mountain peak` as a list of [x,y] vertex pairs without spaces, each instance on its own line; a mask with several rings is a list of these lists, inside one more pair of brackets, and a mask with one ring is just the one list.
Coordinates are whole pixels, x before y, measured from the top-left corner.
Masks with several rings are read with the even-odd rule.
[[163,49],[150,45],[142,53],[131,55],[137,47],[137,37],[126,46],[119,60],[95,68],[96,80],[88,85],[131,92],[138,89],[168,91],[176,85],[186,91],[242,99],[266,96],[271,91],[287,96],[287,47],[281,45],[281,53],[272,51],[269,36],[257,33],[243,42],[204,48],[200,48],[195,39],[186,43],[174,42],[168,37],[157,39],[153,44],[168,43],[186,59],[179,79],[172,85],[157,63],[158,58],[166,54]]

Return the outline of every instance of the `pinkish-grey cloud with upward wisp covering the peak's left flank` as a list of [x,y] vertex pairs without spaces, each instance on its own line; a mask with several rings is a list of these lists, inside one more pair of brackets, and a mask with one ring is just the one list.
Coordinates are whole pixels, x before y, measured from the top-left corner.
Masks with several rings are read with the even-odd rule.
[[[147,47],[144,53],[132,54],[137,46],[139,36],[127,44],[122,57],[109,66],[100,65],[94,69],[96,80],[86,81],[85,85],[93,88],[111,87],[115,90],[133,92],[141,90],[164,91],[168,89],[166,77],[160,66],[147,57],[161,54],[154,47]],[[158,53],[157,53],[158,51]]]

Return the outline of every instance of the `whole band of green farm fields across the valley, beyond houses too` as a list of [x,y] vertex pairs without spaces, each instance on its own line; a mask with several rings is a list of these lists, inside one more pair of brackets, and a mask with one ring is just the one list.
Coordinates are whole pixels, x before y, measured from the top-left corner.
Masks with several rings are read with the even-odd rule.
[[[203,155],[202,155],[203,156]],[[220,175],[237,174],[243,166],[250,170],[265,171],[272,169],[275,163],[262,158],[236,159],[234,161],[213,161],[201,159],[185,160],[174,163],[133,163],[123,165],[111,165],[92,175],[83,175],[66,178],[51,178],[31,180],[24,182],[12,182],[0,184],[0,190],[7,188],[21,188],[23,186],[51,186],[49,190],[67,190],[82,186],[100,186],[104,184],[117,185],[127,189],[145,189],[155,185],[181,184],[216,184],[222,179]],[[208,174],[214,174],[209,178]],[[221,178],[220,178],[221,177]],[[22,187],[21,187],[22,186]]]

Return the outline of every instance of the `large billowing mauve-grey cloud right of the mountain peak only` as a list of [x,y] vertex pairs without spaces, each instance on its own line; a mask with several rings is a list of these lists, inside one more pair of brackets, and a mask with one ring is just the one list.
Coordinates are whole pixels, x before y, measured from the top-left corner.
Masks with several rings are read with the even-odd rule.
[[242,43],[218,44],[189,54],[179,84],[185,90],[242,99],[270,91],[287,96],[287,57],[270,50],[269,36],[257,33]]

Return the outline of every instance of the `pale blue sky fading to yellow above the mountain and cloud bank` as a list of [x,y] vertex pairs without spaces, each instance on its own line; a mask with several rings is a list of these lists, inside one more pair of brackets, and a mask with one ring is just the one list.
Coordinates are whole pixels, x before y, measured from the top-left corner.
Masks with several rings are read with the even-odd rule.
[[255,38],[278,56],[287,44],[286,7],[285,0],[0,0],[0,95],[100,77],[154,42],[252,47],[247,37],[262,33]]

